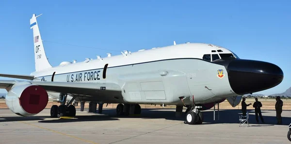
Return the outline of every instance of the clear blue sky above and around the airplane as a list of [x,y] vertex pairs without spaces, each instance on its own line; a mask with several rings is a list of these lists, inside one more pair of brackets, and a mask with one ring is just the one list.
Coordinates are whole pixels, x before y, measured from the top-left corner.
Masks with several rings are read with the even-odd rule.
[[258,93],[281,93],[291,86],[290,5],[290,0],[1,0],[0,73],[34,71],[30,18],[43,14],[37,19],[43,40],[108,49],[44,42],[53,66],[173,41],[212,43],[240,58],[278,65],[282,83]]

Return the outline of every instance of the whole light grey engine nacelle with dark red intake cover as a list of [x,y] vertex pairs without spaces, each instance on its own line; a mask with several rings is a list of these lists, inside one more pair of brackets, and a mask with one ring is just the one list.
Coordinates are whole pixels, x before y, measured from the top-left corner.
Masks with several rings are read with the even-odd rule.
[[12,86],[5,97],[6,105],[15,114],[32,116],[46,108],[49,96],[41,86],[19,82]]

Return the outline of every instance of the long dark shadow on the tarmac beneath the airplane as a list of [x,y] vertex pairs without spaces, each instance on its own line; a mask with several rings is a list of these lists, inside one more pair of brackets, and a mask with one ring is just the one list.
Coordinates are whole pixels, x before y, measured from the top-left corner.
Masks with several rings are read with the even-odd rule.
[[[97,111],[98,112],[98,111]],[[142,118],[142,119],[167,119],[167,120],[176,120],[176,121],[185,121],[185,113],[181,116],[176,117],[175,109],[142,109],[140,115],[129,115],[129,116],[117,116],[115,109],[103,109],[102,114],[96,113],[87,113],[87,110],[84,112],[89,115],[77,115],[73,119],[59,119],[59,118],[50,118],[50,116],[9,116],[9,117],[0,117],[0,122],[10,122],[10,121],[30,121],[38,120],[40,123],[70,123],[70,122],[83,122],[83,121],[111,121],[119,120],[119,118]],[[183,110],[185,112],[185,109]],[[259,118],[259,125],[257,125],[255,112],[249,111],[249,124],[252,127],[261,127],[261,126],[274,126],[277,122],[275,112],[274,116],[267,116],[268,111],[262,112],[263,119],[265,123],[261,123]],[[80,112],[79,112],[80,114]],[[49,115],[49,114],[48,114]],[[239,116],[242,115],[241,110],[220,110],[219,111],[219,120],[213,120],[213,111],[203,111],[204,124],[239,124]],[[218,113],[216,112],[216,116]],[[291,123],[291,117],[282,117],[282,125],[289,125]]]

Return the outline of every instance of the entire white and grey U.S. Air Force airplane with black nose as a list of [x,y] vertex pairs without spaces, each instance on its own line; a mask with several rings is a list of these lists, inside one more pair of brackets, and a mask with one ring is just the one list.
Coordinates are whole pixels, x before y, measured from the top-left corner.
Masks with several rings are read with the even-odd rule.
[[167,104],[177,105],[176,112],[186,106],[186,123],[202,124],[201,111],[215,102],[227,100],[236,106],[243,94],[277,86],[283,80],[283,72],[275,64],[240,59],[224,47],[205,43],[174,42],[52,67],[40,36],[38,16],[33,14],[30,19],[35,72],[0,74],[25,79],[0,80],[0,88],[8,91],[6,104],[17,115],[38,114],[50,96],[61,103],[51,107],[51,117],[75,116],[72,101],[81,102],[81,107],[84,101],[96,101],[101,108],[103,103],[119,103],[117,115],[140,114],[139,104]]

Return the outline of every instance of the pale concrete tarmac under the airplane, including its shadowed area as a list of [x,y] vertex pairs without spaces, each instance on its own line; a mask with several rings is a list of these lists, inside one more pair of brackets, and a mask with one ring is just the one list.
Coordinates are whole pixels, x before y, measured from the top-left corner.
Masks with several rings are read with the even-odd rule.
[[[142,109],[141,115],[116,116],[77,110],[75,118],[50,118],[50,110],[23,117],[0,109],[0,144],[290,144],[287,139],[291,112],[283,111],[282,125],[275,111],[262,111],[265,123],[257,124],[250,111],[250,127],[239,127],[240,110],[205,111],[202,125],[184,124],[185,114],[175,109]],[[185,111],[185,109],[183,110]],[[217,115],[217,113],[216,113]]]

